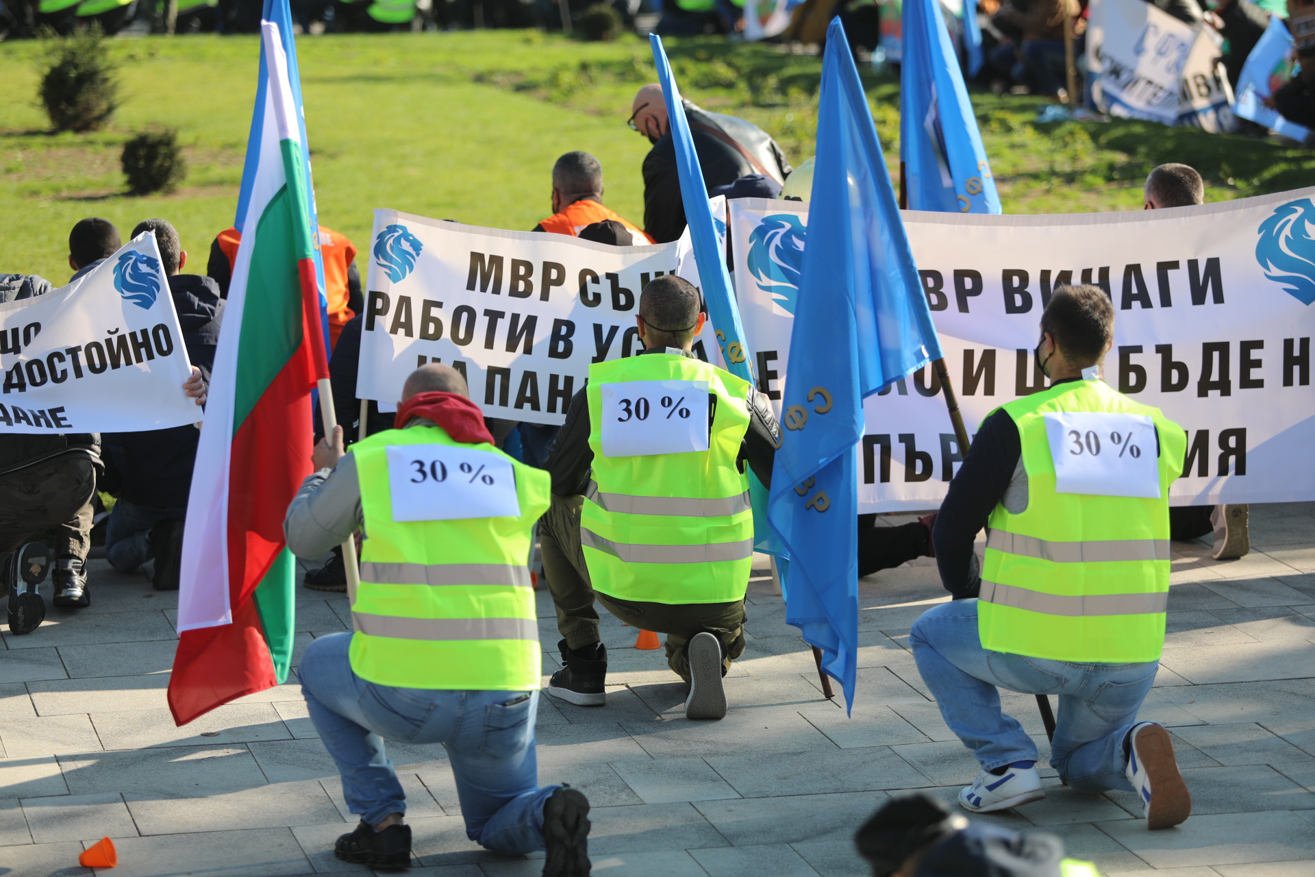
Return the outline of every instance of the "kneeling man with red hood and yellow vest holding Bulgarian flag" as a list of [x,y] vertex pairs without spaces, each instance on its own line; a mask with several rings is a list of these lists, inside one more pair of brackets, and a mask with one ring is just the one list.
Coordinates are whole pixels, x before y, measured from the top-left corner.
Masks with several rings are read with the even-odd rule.
[[302,557],[364,533],[355,632],[314,640],[297,668],[360,817],[334,855],[412,864],[387,738],[447,748],[471,840],[501,855],[546,848],[546,877],[588,874],[589,802],[540,788],[534,753],[542,652],[526,561],[548,477],[497,450],[447,366],[412,372],[396,427],[347,454],[334,427],[284,521]]

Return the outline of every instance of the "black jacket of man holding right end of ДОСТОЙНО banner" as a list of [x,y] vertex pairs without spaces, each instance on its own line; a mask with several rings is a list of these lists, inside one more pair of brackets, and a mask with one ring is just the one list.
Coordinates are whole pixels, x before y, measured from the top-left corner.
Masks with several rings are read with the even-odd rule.
[[[187,356],[209,381],[224,321],[220,288],[210,277],[195,273],[176,273],[168,279],[168,287]],[[103,490],[151,509],[187,505],[200,430],[185,425],[145,433],[105,433],[101,438],[105,444]]]

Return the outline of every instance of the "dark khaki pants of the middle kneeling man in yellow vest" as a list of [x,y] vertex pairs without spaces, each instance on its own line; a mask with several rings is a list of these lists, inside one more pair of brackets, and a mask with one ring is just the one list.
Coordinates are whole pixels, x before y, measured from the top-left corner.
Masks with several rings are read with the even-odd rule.
[[[639,630],[667,634],[667,665],[686,682],[689,661],[685,643],[707,631],[723,644],[723,667],[744,653],[744,601],[729,604],[668,604],[617,600],[596,592],[589,582],[589,569],[580,547],[580,509],[583,496],[552,496],[552,505],[539,519],[539,543],[543,572],[558,610],[558,630],[571,650],[600,642],[598,611],[593,601],[613,615]],[[673,575],[679,575],[673,573]],[[635,634],[638,635],[638,630]]]

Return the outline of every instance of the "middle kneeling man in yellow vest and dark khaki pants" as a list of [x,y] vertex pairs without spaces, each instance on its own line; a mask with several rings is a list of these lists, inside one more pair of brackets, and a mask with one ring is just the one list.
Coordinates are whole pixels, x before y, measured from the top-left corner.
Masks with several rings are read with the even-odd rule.
[[690,686],[688,718],[726,715],[722,676],[744,651],[753,563],[744,467],[769,485],[781,439],[752,384],[694,355],[704,320],[688,281],[644,287],[643,352],[589,367],[550,452],[539,540],[564,667],[548,693],[571,703],[606,702],[597,597],[621,621],[667,634],[667,664]]

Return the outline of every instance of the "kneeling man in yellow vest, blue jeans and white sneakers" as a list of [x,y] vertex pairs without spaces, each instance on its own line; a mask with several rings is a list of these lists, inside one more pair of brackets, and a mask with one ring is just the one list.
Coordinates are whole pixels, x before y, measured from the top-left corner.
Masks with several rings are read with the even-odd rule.
[[936,563],[955,600],[909,639],[945,723],[981,765],[959,794],[972,813],[1045,797],[1036,744],[1001,711],[997,688],[1059,696],[1049,763],[1073,789],[1136,793],[1151,828],[1191,813],[1169,732],[1137,722],[1164,647],[1169,484],[1186,435],[1099,379],[1112,339],[1103,291],[1056,291],[1035,351],[1049,388],[982,421],[936,519]]

